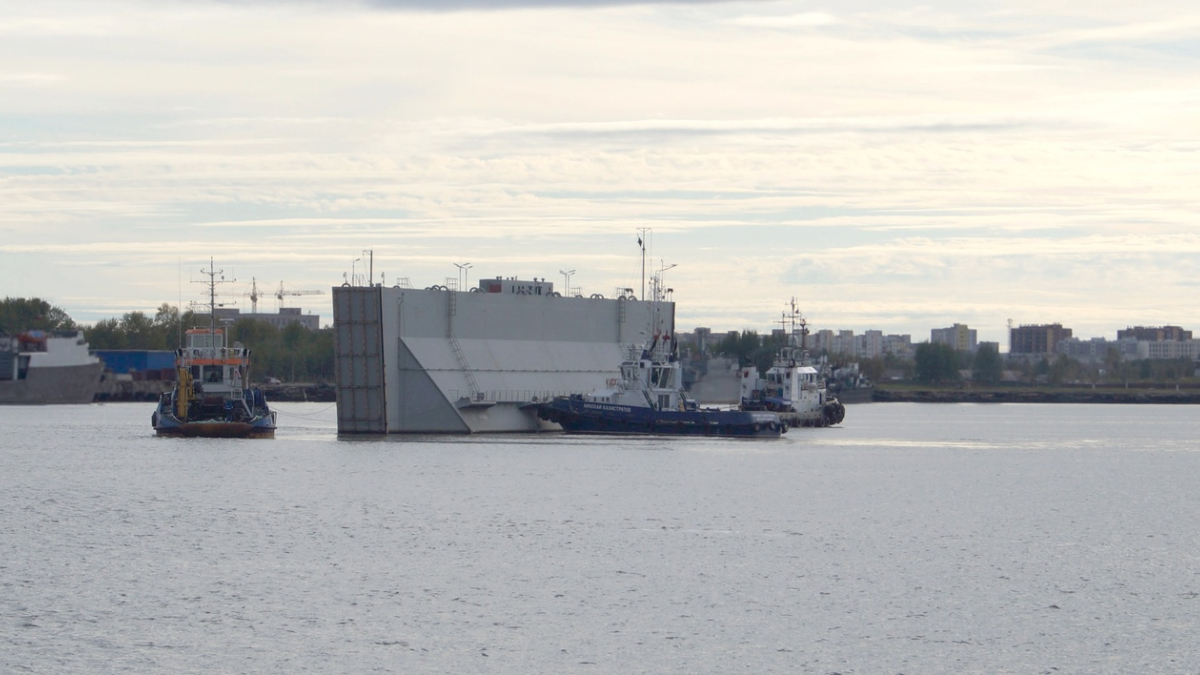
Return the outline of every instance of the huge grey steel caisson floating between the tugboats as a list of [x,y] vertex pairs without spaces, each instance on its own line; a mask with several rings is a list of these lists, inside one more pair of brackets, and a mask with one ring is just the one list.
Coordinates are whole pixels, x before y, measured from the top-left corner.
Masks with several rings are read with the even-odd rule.
[[674,303],[565,297],[545,280],[334,288],[338,434],[538,431],[536,404],[602,388]]

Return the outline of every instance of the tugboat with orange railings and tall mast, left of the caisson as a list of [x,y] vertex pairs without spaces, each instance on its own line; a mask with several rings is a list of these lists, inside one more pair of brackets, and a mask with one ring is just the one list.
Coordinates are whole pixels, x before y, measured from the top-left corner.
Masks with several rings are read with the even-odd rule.
[[240,342],[226,346],[216,328],[216,276],[211,262],[206,328],[187,330],[187,344],[175,352],[175,387],[162,394],[150,416],[158,436],[211,438],[274,438],[275,412],[263,392],[250,383],[250,350]]

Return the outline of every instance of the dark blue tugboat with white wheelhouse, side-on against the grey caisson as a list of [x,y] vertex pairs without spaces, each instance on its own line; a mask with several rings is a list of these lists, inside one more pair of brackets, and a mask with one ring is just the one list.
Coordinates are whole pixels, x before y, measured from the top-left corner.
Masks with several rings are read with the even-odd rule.
[[[666,345],[672,345],[666,348]],[[658,338],[631,350],[620,377],[590,394],[558,396],[538,405],[538,417],[568,434],[666,434],[680,436],[779,437],[787,431],[774,412],[700,408],[682,389],[674,340]]]

